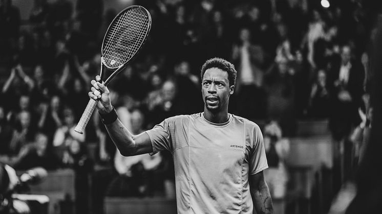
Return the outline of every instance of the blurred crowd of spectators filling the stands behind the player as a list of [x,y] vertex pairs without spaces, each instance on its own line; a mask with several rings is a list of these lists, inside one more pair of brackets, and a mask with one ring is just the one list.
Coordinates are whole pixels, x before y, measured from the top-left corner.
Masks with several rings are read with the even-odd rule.
[[[134,134],[166,117],[202,111],[200,67],[222,57],[238,70],[229,111],[269,122],[264,133],[271,167],[278,168],[288,152],[281,133],[294,136],[300,119],[329,120],[338,141],[358,127],[351,139],[362,151],[359,133],[370,126],[372,112],[373,1],[330,1],[329,8],[308,0],[135,3],[150,11],[152,32],[109,86],[120,120]],[[105,194],[161,191],[174,197],[171,154],[120,156],[98,112],[83,135],[74,131],[99,73],[103,35],[117,12],[104,9],[101,0],[34,0],[29,19],[21,20],[11,0],[0,1],[0,161],[18,170],[38,165],[78,172],[111,164],[115,176]],[[274,146],[278,141],[281,146]],[[97,145],[93,158],[90,143]],[[275,189],[285,195],[283,187]]]

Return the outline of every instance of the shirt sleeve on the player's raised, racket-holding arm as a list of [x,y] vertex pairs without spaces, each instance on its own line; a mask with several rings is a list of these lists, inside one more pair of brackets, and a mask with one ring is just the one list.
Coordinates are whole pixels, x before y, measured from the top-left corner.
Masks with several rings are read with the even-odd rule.
[[174,130],[173,121],[167,118],[162,123],[156,125],[153,129],[146,131],[151,140],[154,155],[159,151],[168,150],[172,151],[171,133]]

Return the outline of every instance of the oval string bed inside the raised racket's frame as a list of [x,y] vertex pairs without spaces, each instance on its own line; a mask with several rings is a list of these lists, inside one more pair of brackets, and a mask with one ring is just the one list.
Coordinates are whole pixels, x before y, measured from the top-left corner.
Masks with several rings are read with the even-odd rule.
[[140,8],[121,14],[111,25],[103,44],[103,59],[111,68],[129,61],[143,43],[148,31],[148,16]]

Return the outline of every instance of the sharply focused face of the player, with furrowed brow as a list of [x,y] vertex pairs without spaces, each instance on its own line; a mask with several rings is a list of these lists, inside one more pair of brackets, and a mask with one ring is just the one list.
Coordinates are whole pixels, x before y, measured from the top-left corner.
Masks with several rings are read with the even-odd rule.
[[228,109],[229,96],[235,86],[229,86],[228,73],[216,67],[206,70],[202,80],[202,96],[205,108],[209,111]]

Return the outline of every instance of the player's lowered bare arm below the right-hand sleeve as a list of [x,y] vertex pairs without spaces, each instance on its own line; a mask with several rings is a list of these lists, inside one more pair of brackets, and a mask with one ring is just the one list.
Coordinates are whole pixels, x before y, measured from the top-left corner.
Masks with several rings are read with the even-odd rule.
[[273,214],[273,204],[263,171],[249,176],[254,209],[258,214]]

